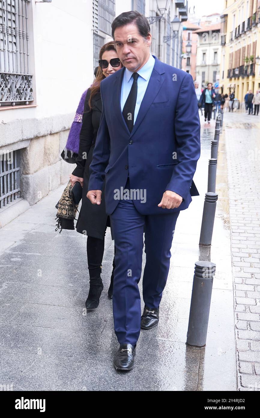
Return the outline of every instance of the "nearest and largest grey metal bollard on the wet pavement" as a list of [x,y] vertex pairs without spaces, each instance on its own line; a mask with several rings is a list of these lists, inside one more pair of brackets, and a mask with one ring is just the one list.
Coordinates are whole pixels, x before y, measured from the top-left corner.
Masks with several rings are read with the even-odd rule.
[[215,271],[216,265],[210,261],[197,261],[195,263],[187,331],[187,344],[192,347],[204,347],[206,345]]

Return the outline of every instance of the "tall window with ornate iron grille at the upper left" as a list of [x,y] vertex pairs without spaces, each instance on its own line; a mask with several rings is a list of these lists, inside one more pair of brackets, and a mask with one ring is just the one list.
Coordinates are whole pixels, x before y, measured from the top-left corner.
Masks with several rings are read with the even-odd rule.
[[0,0],[0,105],[33,101],[30,0]]

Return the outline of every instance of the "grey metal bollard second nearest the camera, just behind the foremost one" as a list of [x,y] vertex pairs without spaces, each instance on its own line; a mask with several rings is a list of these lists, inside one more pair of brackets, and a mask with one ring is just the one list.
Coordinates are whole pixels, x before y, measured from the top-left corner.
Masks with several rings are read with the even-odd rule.
[[199,245],[211,245],[217,197],[217,194],[211,191],[205,194]]

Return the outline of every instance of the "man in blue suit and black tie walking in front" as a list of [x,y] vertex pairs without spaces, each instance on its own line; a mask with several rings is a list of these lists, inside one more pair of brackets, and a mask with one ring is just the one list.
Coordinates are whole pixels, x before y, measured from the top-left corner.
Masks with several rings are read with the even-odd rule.
[[120,347],[114,367],[131,370],[140,327],[151,329],[159,321],[177,217],[199,194],[192,178],[200,156],[200,122],[192,76],[150,54],[143,15],[121,13],[112,36],[124,68],[100,85],[103,110],[87,196],[100,204],[106,176],[106,212],[116,246],[113,314]]

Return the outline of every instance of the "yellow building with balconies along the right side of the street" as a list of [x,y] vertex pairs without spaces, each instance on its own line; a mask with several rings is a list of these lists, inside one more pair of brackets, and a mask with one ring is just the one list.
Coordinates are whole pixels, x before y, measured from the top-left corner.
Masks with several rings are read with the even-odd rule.
[[[220,87],[244,102],[245,94],[260,89],[260,0],[224,0],[221,16]],[[258,61],[258,60],[257,60]]]

